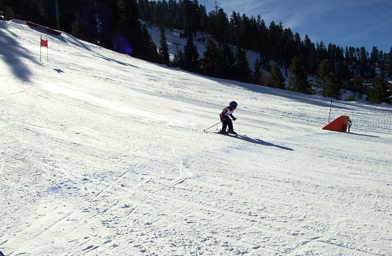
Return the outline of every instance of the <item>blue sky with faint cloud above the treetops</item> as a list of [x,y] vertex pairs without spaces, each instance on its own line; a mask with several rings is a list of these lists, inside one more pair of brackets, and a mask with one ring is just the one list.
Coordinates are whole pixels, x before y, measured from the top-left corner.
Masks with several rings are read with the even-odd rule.
[[[233,11],[260,17],[308,35],[312,42],[389,52],[392,47],[392,0],[217,0],[230,18]],[[199,0],[207,12],[215,0]]]

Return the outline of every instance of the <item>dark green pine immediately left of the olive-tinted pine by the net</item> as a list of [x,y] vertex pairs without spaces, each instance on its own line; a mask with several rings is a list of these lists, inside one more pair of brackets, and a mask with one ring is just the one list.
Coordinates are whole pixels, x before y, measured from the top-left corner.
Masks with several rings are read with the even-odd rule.
[[290,89],[301,93],[312,93],[312,88],[308,82],[304,66],[297,57],[294,57],[290,65]]

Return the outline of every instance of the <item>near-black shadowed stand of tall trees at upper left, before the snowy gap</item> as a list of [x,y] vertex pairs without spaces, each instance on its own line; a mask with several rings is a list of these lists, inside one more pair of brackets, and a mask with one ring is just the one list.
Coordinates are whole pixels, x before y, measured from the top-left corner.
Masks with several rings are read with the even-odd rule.
[[58,10],[62,31],[137,58],[160,61],[147,27],[140,22],[137,0],[0,0],[0,10],[6,19],[52,28],[57,28]]

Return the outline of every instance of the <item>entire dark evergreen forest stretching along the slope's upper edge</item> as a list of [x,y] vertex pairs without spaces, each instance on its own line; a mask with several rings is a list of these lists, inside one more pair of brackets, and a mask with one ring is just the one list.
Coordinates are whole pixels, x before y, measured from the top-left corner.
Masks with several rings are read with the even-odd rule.
[[[248,17],[222,8],[207,13],[197,0],[57,0],[60,29],[108,49],[148,61],[178,66],[208,76],[321,93],[339,98],[342,89],[368,94],[375,103],[391,103],[392,47],[389,52],[373,47],[340,47],[314,43],[293,33],[282,23],[268,26],[261,16]],[[0,0],[6,18],[19,17],[56,27],[56,0]],[[142,21],[142,22],[141,22]],[[146,24],[161,28],[157,47]],[[187,38],[171,61],[165,30],[179,29]],[[200,36],[202,35],[202,36]],[[208,35],[208,36],[207,36]],[[200,56],[194,40],[202,40]],[[259,57],[249,66],[246,51]],[[311,76],[313,80],[309,81]]]

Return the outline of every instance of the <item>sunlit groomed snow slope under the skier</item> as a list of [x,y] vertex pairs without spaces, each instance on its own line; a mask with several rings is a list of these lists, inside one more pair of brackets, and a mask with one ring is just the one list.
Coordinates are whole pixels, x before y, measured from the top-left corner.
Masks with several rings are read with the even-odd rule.
[[[0,21],[5,255],[392,255],[391,108]],[[238,138],[213,133],[236,100]],[[353,133],[322,130],[349,115]]]

